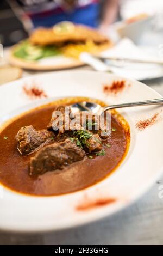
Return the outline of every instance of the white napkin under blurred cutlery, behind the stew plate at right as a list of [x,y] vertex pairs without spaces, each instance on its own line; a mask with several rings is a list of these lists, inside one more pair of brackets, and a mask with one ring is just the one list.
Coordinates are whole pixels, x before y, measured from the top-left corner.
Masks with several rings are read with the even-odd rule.
[[[160,56],[159,56],[160,51]],[[162,47],[163,54],[163,47]],[[148,61],[161,61],[163,63],[163,55],[161,56],[161,49],[157,54],[151,54],[148,51],[142,50],[142,48],[136,46],[133,41],[128,38],[122,39],[118,44],[108,50],[101,53],[103,57],[115,57],[115,58],[130,58],[137,60],[148,60]],[[142,63],[125,63],[122,66],[114,66],[114,62],[108,61],[112,72],[117,75],[125,76],[128,78],[134,78],[136,80],[145,80],[151,78],[158,78],[163,76],[163,65],[158,64],[142,64]],[[118,65],[118,62],[115,62]]]

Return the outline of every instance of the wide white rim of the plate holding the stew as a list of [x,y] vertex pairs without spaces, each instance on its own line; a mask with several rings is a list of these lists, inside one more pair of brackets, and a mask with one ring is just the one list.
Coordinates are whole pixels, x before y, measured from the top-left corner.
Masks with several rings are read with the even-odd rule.
[[[103,92],[104,84],[121,79],[102,72],[62,71],[5,84],[0,87],[1,123],[29,108],[26,107],[29,103],[31,107],[41,104],[39,100],[28,99],[23,94],[24,83],[29,86],[33,82],[39,84],[49,97],[88,96],[108,103],[160,97],[154,90],[132,80],[126,80],[126,87],[116,96]],[[96,221],[133,203],[162,173],[162,109],[160,106],[148,106],[121,110],[131,129],[129,152],[111,176],[92,187],[64,196],[34,197],[16,193],[2,186],[0,228],[27,232],[59,230]],[[143,131],[136,130],[137,121],[151,118],[155,113],[158,113],[158,118],[151,127]],[[114,203],[89,210],[77,210],[77,206],[86,202],[85,200],[91,203],[103,198],[116,200]]]

